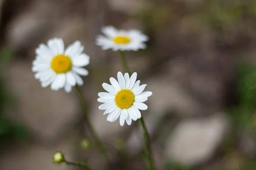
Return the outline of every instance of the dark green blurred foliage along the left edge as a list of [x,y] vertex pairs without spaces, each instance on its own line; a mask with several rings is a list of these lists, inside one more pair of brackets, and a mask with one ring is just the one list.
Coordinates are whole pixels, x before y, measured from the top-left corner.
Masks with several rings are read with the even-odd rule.
[[5,47],[0,51],[0,147],[6,142],[26,139],[28,133],[24,125],[14,124],[6,118],[4,113],[13,103],[12,95],[7,91],[3,70],[12,59],[12,51]]

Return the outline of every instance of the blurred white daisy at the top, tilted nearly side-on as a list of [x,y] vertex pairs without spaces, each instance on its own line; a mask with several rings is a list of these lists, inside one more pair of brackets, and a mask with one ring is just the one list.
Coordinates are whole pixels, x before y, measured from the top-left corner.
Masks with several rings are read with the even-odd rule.
[[96,38],[96,45],[102,47],[102,50],[112,49],[113,51],[138,51],[145,49],[144,42],[148,41],[148,36],[138,30],[117,30],[113,26],[102,28],[104,36],[99,35]]

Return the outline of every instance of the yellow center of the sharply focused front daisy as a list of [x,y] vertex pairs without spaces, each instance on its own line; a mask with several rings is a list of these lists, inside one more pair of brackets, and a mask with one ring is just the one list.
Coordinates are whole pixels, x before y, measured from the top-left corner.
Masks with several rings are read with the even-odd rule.
[[128,89],[120,90],[115,96],[116,105],[121,109],[128,109],[132,106],[135,96]]

